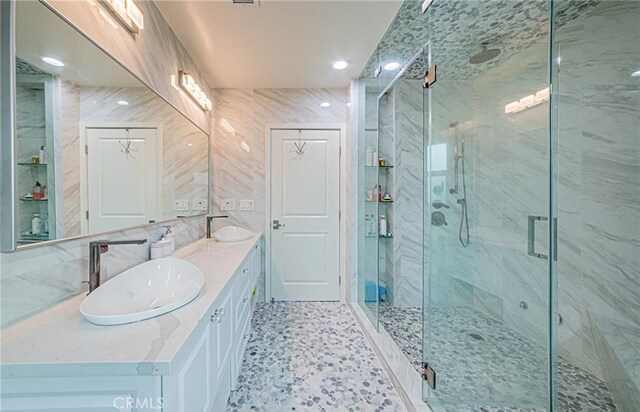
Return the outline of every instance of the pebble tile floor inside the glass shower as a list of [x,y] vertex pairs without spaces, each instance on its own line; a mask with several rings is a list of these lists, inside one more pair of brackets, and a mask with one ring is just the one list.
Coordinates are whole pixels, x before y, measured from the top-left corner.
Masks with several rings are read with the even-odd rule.
[[[381,304],[380,324],[417,370],[422,359],[422,309]],[[448,412],[544,411],[546,354],[501,322],[468,307],[431,312],[431,351],[437,353],[436,396]],[[604,383],[560,359],[561,412],[611,412]]]

